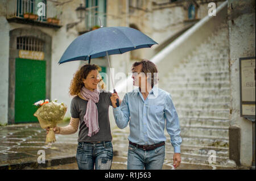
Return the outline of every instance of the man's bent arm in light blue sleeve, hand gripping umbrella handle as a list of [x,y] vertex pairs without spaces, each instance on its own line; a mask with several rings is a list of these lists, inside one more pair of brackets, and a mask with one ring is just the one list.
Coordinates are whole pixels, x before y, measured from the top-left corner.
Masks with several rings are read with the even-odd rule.
[[[112,97],[112,104],[115,105],[113,101],[116,102],[116,98],[114,96]],[[122,103],[119,107],[114,108],[113,106],[113,114],[117,127],[120,129],[126,128],[130,120],[130,111],[128,107],[127,94],[125,94]]]

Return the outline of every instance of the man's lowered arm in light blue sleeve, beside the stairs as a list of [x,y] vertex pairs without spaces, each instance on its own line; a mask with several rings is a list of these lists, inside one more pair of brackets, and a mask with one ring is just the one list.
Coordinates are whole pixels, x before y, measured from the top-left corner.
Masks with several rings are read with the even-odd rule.
[[172,103],[171,95],[166,96],[164,116],[166,118],[166,130],[171,137],[171,144],[174,146],[174,153],[180,153],[182,139],[180,137],[179,117]]

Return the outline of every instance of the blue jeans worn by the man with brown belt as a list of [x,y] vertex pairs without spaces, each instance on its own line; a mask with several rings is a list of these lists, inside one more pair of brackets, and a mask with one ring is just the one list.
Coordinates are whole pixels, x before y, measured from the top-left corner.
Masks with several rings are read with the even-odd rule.
[[143,150],[129,144],[128,149],[128,170],[160,170],[163,167],[165,146],[155,150]]

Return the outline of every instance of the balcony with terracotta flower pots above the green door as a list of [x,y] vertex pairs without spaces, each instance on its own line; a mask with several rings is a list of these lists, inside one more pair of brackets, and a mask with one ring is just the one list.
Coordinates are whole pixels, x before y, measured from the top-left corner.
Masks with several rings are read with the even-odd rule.
[[[40,4],[39,4],[40,3]],[[55,5],[46,0],[9,0],[6,19],[9,23],[23,23],[34,26],[60,28],[59,14]]]

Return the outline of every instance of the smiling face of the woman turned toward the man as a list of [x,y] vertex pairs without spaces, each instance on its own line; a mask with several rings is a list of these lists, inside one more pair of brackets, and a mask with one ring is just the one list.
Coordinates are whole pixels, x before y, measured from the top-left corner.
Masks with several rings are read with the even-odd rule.
[[83,79],[82,82],[84,82],[85,88],[90,91],[94,91],[95,89],[97,89],[98,82],[100,82],[100,78],[98,77],[98,71],[91,70],[87,75],[86,79]]

